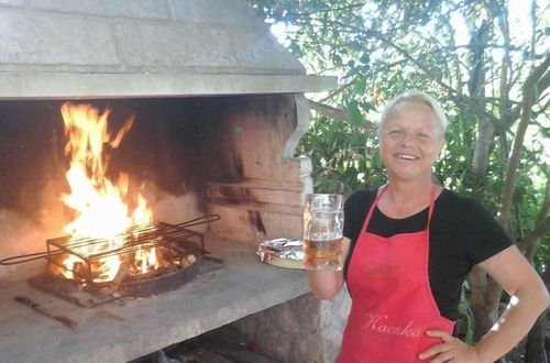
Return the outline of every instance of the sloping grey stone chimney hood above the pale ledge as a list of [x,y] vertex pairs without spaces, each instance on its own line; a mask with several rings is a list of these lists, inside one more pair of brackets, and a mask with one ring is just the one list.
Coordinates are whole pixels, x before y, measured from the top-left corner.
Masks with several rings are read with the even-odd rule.
[[[81,70],[94,72],[94,67],[117,65],[112,70],[127,73],[130,67],[142,72],[197,67],[211,68],[210,73],[228,69],[305,73],[240,0],[176,1],[175,9],[186,9],[180,10],[186,18],[177,22],[153,21],[168,18],[165,1],[32,0],[31,6],[48,11],[1,14],[0,67],[3,63],[22,67],[58,65],[57,69],[46,69],[54,72],[84,65],[87,68]],[[234,24],[209,23],[210,15],[233,19]],[[246,28],[251,22],[257,26]]]

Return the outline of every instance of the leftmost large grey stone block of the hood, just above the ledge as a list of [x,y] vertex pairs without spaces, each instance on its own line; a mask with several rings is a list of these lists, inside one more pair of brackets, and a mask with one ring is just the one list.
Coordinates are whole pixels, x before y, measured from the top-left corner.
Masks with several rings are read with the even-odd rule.
[[109,26],[90,19],[0,13],[0,69],[2,63],[119,63]]

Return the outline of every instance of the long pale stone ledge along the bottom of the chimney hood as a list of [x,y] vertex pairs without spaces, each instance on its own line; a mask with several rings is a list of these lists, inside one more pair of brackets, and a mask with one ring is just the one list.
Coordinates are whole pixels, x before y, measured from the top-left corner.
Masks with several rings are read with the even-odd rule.
[[0,99],[147,98],[319,92],[336,77],[0,72]]

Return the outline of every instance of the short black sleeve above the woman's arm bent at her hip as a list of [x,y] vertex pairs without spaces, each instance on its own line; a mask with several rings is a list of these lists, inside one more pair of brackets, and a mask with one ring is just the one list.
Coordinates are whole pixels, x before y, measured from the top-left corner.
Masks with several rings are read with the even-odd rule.
[[513,244],[508,233],[479,201],[464,198],[464,233],[469,260],[477,264]]

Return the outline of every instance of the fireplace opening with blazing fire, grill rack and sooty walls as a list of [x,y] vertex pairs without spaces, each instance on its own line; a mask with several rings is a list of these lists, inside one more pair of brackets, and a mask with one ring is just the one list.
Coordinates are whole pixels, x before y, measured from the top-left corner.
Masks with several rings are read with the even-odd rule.
[[[280,161],[296,129],[292,96],[0,101],[0,128],[11,141],[0,156],[0,207],[10,211],[0,222],[15,215],[46,241],[42,254],[40,241],[16,242],[34,235],[8,233],[2,262],[45,257],[48,276],[38,271],[30,284],[80,306],[110,301],[106,286],[146,296],[167,286],[161,276],[188,279],[195,263],[209,267],[189,271],[220,268],[205,260],[202,237],[220,218],[229,229],[218,234],[239,242],[280,233],[274,227],[289,219],[299,227],[299,198],[294,210],[288,197],[273,200],[302,189]],[[75,285],[94,296],[75,298]]]

